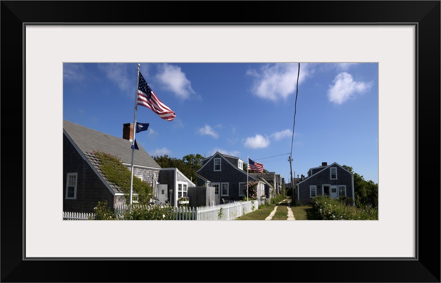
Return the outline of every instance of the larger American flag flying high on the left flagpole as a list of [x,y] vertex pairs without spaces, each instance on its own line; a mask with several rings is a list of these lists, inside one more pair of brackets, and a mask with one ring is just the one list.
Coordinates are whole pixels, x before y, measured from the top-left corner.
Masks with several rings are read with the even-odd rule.
[[146,80],[144,80],[141,72],[139,72],[137,105],[151,109],[153,112],[157,113],[159,117],[167,121],[171,121],[176,117],[175,113],[158,99],[155,92],[153,92]]

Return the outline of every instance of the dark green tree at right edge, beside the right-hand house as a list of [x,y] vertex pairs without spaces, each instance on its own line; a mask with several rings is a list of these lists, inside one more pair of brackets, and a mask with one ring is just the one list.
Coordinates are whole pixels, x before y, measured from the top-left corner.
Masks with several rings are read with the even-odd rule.
[[354,200],[356,207],[371,205],[378,207],[378,184],[374,181],[366,181],[362,175],[355,173],[352,167],[343,165],[349,172],[354,174]]

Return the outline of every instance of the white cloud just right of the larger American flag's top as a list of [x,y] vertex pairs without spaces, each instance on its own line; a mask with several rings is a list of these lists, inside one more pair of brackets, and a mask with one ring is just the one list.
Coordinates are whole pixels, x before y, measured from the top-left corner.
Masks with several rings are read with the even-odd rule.
[[188,99],[190,94],[195,93],[181,67],[162,64],[159,66],[159,72],[156,76],[165,89],[174,92],[182,99]]

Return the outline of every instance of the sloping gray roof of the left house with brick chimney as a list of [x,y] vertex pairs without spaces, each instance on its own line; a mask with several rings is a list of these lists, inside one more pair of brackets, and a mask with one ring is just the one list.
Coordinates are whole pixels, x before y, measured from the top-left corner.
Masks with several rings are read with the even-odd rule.
[[[72,140],[84,153],[102,151],[120,158],[121,162],[132,163],[132,142],[118,138],[96,130],[75,124],[63,119],[63,134]],[[135,150],[133,164],[136,166],[160,169],[158,163],[138,144],[139,150]]]

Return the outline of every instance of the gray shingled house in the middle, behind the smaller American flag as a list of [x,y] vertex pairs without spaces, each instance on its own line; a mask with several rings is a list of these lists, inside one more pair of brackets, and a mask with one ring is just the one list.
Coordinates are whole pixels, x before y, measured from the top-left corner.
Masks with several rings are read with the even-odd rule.
[[247,178],[249,181],[258,181],[257,194],[259,197],[264,193],[265,183],[247,171],[243,170],[243,160],[238,157],[216,152],[213,156],[202,160],[202,166],[196,171],[198,174],[197,186],[211,186],[215,188],[216,204],[222,204],[224,200],[240,200],[246,197],[243,190],[246,189]]

